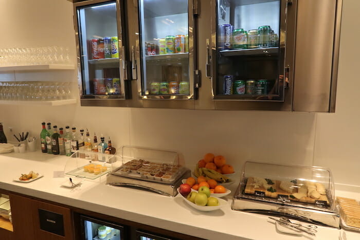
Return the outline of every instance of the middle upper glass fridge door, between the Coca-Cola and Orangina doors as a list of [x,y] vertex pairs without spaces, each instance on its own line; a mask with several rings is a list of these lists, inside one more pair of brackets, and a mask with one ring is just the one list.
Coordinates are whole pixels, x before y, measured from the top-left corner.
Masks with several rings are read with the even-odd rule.
[[139,0],[142,99],[192,99],[193,1]]

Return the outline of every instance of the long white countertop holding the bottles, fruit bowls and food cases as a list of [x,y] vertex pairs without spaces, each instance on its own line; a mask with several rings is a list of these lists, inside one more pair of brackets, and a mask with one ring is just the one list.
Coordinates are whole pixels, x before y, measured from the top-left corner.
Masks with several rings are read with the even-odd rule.
[[[71,190],[61,187],[67,178],[53,178],[54,171],[64,171],[68,160],[74,159],[41,152],[2,154],[0,165],[4,171],[0,174],[0,189],[205,239],[338,240],[340,235],[342,239],[360,239],[360,233],[327,227],[319,227],[316,237],[306,233],[304,236],[279,233],[265,215],[232,211],[232,194],[226,198],[227,207],[200,212],[187,205],[179,195],[166,197],[138,189],[106,186],[104,177],[101,181],[83,181],[81,188]],[[29,171],[42,173],[44,177],[28,183],[12,180]],[[231,191],[236,187],[237,183],[233,184]],[[360,199],[360,193],[339,193]]]

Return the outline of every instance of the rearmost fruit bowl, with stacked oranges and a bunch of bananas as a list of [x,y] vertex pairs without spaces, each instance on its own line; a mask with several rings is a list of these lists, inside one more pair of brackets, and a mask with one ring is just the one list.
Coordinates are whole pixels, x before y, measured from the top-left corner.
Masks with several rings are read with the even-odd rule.
[[235,171],[232,165],[226,164],[224,156],[207,153],[204,159],[196,163],[193,175],[196,178],[203,176],[207,179],[214,179],[223,186],[228,186],[234,182],[230,177],[235,175]]

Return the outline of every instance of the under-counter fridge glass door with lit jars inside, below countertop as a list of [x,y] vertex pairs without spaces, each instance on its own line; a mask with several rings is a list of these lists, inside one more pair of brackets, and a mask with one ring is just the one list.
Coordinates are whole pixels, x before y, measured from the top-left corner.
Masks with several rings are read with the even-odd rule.
[[83,240],[124,240],[122,226],[106,223],[91,217],[81,216]]

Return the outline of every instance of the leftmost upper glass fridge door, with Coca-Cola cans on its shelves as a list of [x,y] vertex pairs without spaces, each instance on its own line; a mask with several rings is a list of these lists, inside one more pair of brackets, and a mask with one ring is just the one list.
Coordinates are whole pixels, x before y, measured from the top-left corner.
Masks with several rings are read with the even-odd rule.
[[75,4],[82,98],[126,98],[127,78],[118,1]]

